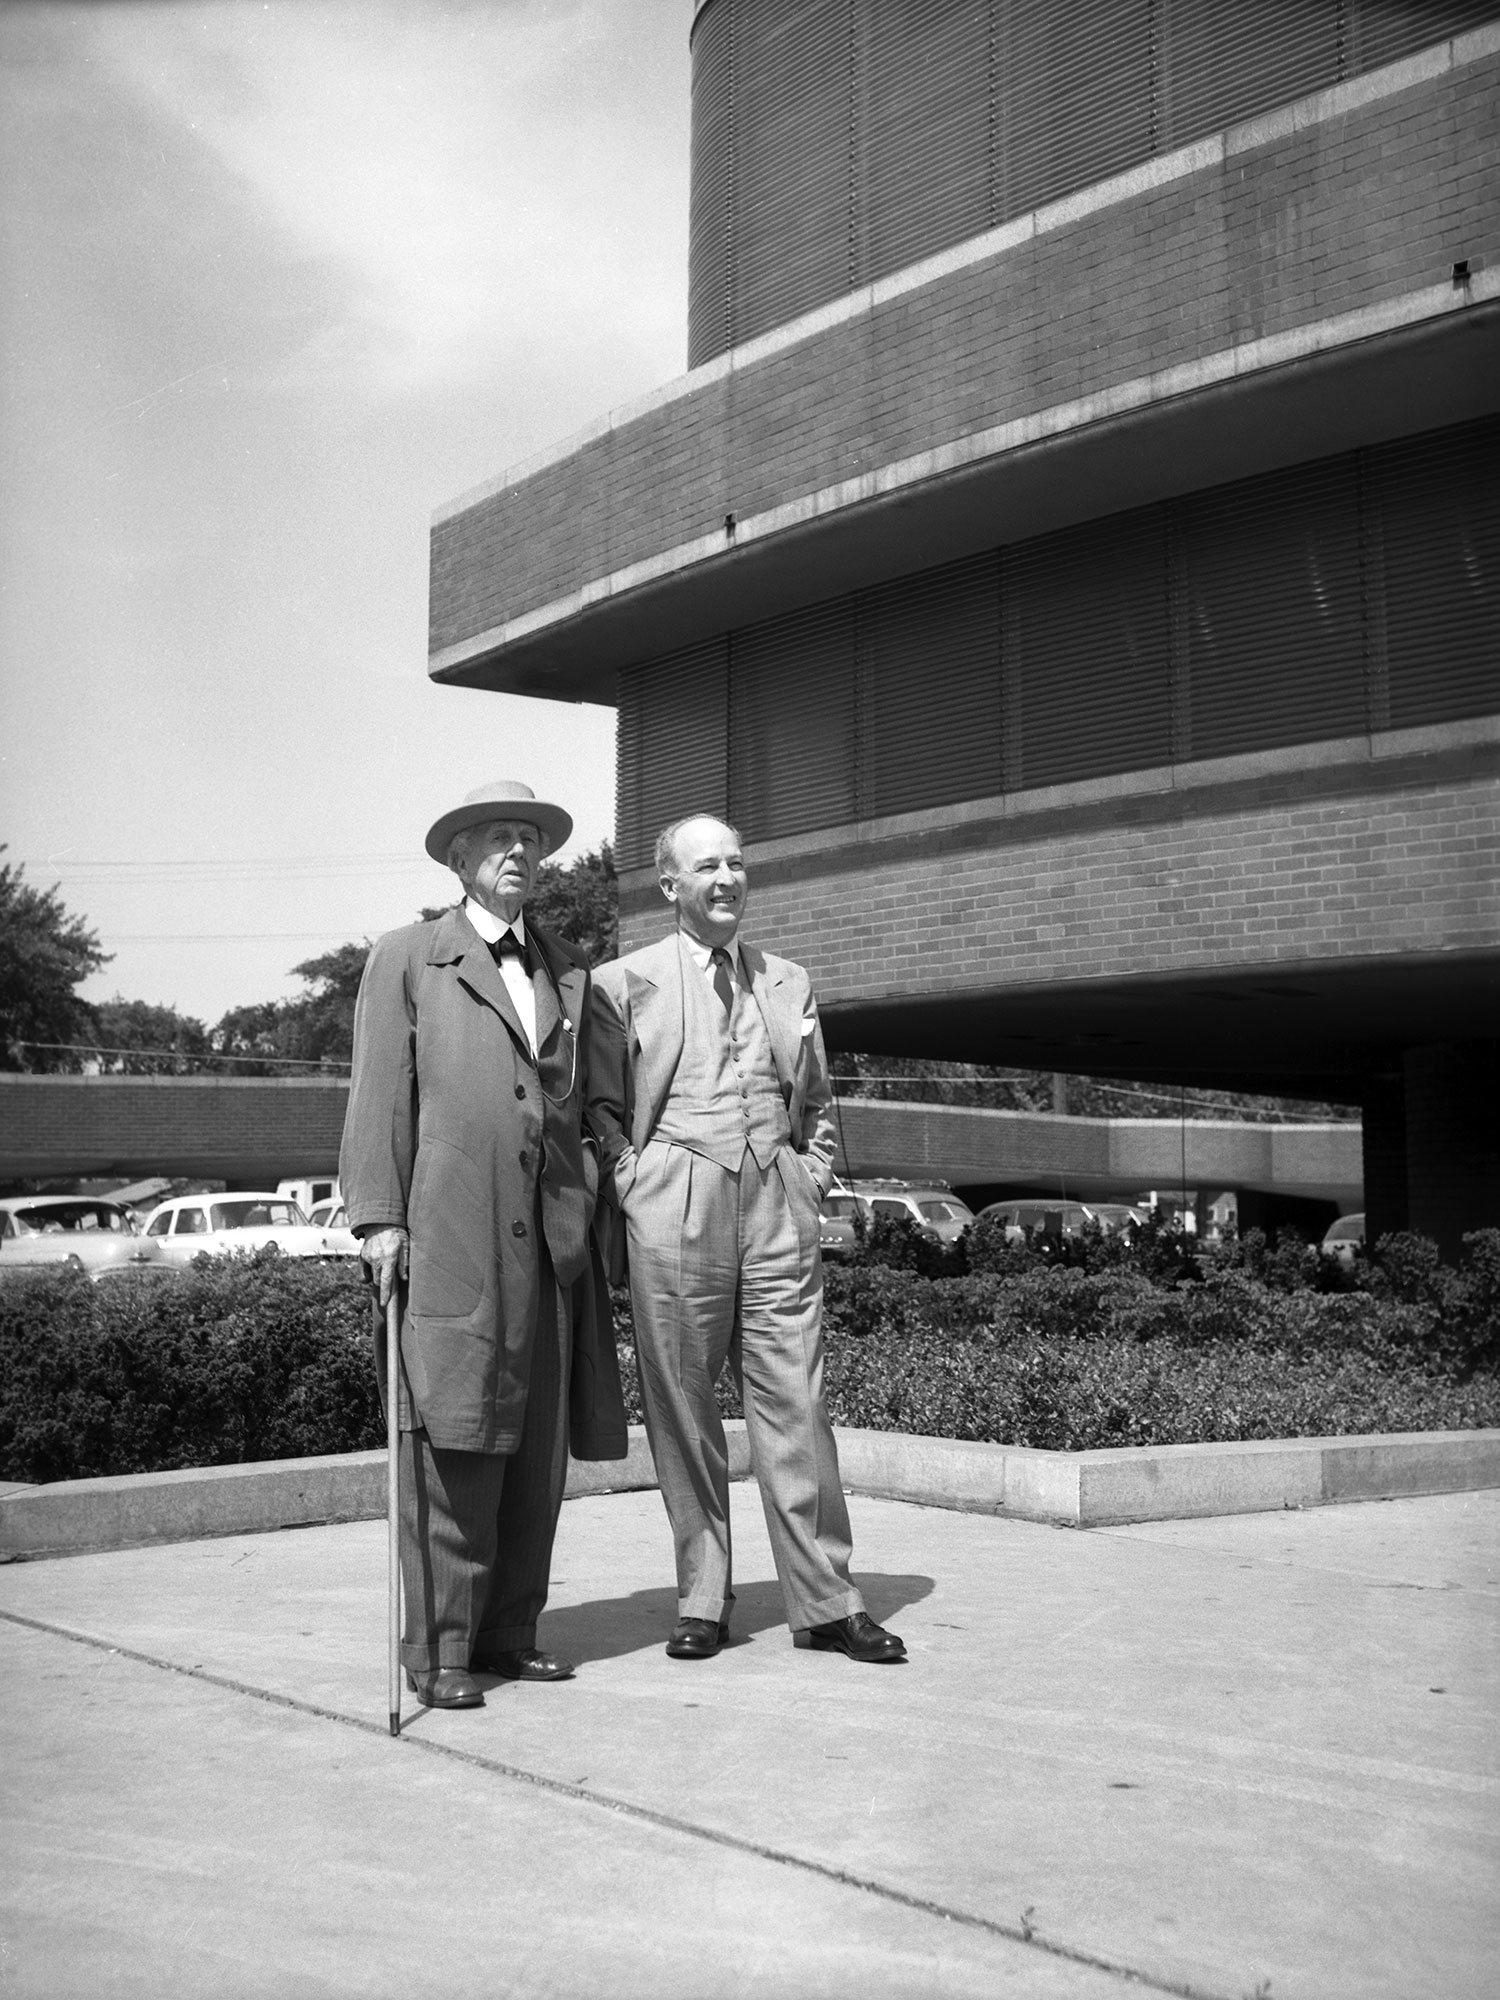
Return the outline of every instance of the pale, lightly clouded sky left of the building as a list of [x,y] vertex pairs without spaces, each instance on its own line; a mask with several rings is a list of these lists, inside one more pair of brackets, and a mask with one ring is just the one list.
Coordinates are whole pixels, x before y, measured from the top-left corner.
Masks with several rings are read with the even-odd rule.
[[426,678],[436,504],[682,372],[690,0],[0,8],[0,840],[210,1024],[614,712]]

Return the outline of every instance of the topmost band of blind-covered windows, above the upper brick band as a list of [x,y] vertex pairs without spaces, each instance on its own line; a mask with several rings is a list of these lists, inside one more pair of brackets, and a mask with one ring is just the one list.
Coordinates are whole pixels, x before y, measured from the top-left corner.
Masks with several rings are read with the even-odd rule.
[[1498,0],[712,0],[690,366]]

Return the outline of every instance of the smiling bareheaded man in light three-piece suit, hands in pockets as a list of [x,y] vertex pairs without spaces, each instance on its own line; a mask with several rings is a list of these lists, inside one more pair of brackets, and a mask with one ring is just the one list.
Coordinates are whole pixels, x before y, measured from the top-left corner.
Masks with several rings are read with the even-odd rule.
[[732,826],[668,826],[656,872],[678,928],[594,976],[588,1124],[602,1198],[624,1218],[646,1432],[676,1542],[666,1650],[704,1660],[728,1638],[714,1382],[730,1358],[796,1644],[902,1660],[850,1580],[822,1398],[818,1206],[834,1124],[812,984],[740,942],[748,878]]

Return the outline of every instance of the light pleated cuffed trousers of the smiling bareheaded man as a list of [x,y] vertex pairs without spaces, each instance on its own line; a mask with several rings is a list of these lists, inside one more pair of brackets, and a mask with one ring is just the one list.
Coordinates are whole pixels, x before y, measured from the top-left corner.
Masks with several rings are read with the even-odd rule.
[[782,1152],[738,1174],[654,1142],[626,1196],[642,1406],[672,1522],[678,1614],[728,1618],[730,1480],[714,1382],[744,1402],[770,1548],[792,1630],[864,1608],[838,1446],[822,1396],[818,1190]]

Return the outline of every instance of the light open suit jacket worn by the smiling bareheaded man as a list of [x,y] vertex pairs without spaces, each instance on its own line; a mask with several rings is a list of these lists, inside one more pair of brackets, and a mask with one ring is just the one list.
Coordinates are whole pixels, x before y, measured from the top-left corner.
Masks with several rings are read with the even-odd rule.
[[[770,1036],[776,1076],[792,1126],[792,1146],[806,1160],[820,1192],[834,1178],[838,1134],[830,1112],[834,1090],[822,1046],[812,980],[790,958],[772,958],[740,942],[740,964]],[[586,1122],[600,1152],[600,1196],[618,1210],[636,1178],[636,1156],[648,1144],[682,1056],[682,946],[676,932],[594,972],[594,1012],[588,1056]],[[610,1236],[610,1272],[622,1268],[622,1230]]]

